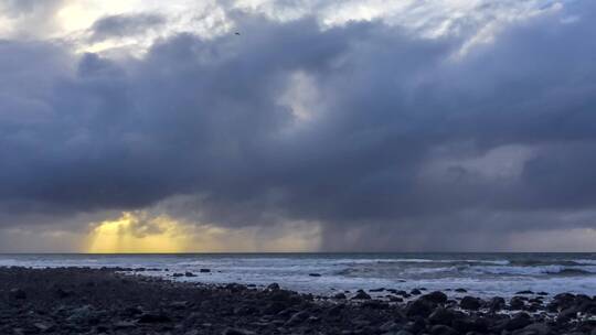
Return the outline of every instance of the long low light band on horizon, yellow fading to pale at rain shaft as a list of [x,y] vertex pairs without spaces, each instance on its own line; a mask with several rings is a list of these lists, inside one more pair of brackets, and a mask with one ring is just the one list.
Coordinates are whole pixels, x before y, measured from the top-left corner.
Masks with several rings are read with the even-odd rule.
[[115,219],[92,223],[84,252],[266,252],[315,251],[320,226],[288,221],[268,227],[226,228],[187,223],[146,210],[124,212]]

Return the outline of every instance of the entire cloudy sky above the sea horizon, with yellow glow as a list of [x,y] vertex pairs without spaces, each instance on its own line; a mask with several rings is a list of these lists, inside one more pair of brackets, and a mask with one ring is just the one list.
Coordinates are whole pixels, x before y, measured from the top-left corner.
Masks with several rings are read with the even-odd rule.
[[0,252],[595,251],[596,2],[0,0]]

